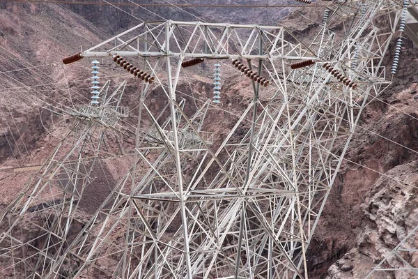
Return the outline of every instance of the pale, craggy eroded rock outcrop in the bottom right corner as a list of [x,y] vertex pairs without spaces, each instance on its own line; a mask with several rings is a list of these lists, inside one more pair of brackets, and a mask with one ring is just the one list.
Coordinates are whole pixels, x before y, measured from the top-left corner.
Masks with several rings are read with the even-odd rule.
[[[364,278],[410,233],[418,219],[418,161],[399,165],[380,176],[366,194],[361,209],[366,216],[362,233],[357,236],[356,248],[346,253],[328,270],[327,279]],[[403,248],[417,246],[417,237],[406,241]],[[403,252],[403,259],[418,266],[415,252]],[[375,272],[371,278],[417,278],[402,270],[401,259],[389,257],[386,268],[397,271]]]

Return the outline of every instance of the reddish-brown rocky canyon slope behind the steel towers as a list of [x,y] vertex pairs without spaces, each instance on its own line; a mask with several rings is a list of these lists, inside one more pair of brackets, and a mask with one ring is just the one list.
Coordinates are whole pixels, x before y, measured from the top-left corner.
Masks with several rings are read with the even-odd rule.
[[[139,7],[123,9],[141,19],[162,20],[155,18],[153,13],[157,13],[173,20],[196,20],[192,15],[173,8],[157,8],[152,10],[153,13]],[[233,18],[236,23],[263,23],[281,17],[281,13],[272,10],[186,10],[215,22]],[[315,33],[322,12],[322,9],[310,10],[309,13],[296,11],[283,22],[295,33],[309,38]],[[56,123],[54,117],[38,111],[38,107],[33,105],[36,99],[27,97],[51,103],[85,102],[88,92],[82,88],[88,86],[88,61],[80,62],[84,73],[62,66],[59,61],[62,56],[79,50],[80,45],[94,45],[108,34],[139,23],[127,13],[109,6],[0,2],[0,165],[3,169],[0,172],[0,210],[20,192],[28,175],[8,168],[42,163],[65,130],[63,123]],[[109,20],[112,18],[118,20]],[[418,51],[409,42],[402,55],[400,70],[392,86],[364,111],[359,123],[362,128],[357,128],[346,156],[348,160],[343,163],[339,179],[332,188],[311,243],[311,278],[364,278],[417,225],[418,112],[414,96],[418,95],[418,86],[414,83],[417,79],[414,73]],[[38,65],[45,66],[37,70],[9,72]],[[111,63],[103,65],[104,76],[115,75],[116,66]],[[124,77],[128,76],[118,77],[114,82],[120,82]],[[211,81],[201,77],[199,72],[191,73],[190,78],[194,80],[192,84],[182,81],[179,85],[188,103],[193,103],[192,97],[208,98]],[[239,114],[247,105],[251,89],[246,80],[235,82],[236,78],[231,76],[226,81],[229,91],[225,92],[224,98],[228,110]],[[12,87],[18,88],[10,89]],[[125,105],[135,102],[134,90],[134,86],[127,89],[123,100]],[[74,98],[70,100],[70,96]],[[155,110],[160,110],[162,105],[159,98],[161,94],[156,90],[149,100],[155,105]],[[192,112],[194,108],[189,110]],[[10,116],[14,122],[9,121]],[[207,126],[207,130],[216,130],[216,126],[231,127],[235,121],[231,114],[219,112],[210,112],[208,117],[217,121],[213,122],[216,125]],[[219,138],[226,133],[226,130],[218,131]],[[123,174],[123,167],[106,162],[104,165],[104,176],[112,176],[109,179],[116,181]],[[100,189],[104,189],[104,181],[98,183]],[[106,193],[105,190],[100,192]],[[97,197],[88,204],[90,207],[86,206],[86,211],[91,212],[104,197],[96,192],[88,195]],[[412,257],[417,262],[416,256]],[[397,263],[392,261],[392,264]],[[381,276],[376,278],[412,278],[401,271]]]

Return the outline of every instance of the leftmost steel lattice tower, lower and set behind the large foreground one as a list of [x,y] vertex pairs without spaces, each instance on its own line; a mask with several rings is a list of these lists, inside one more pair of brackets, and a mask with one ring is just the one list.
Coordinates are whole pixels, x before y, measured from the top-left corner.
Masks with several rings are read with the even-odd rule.
[[72,128],[0,216],[3,278],[44,278],[70,245],[71,234],[82,229],[79,220],[86,217],[79,205],[94,181],[98,160],[123,156],[121,138],[134,137],[118,124],[128,113],[120,106],[125,84],[109,95],[109,82],[104,84],[98,91],[101,106],[44,107],[72,118]]

